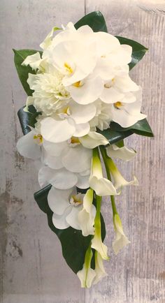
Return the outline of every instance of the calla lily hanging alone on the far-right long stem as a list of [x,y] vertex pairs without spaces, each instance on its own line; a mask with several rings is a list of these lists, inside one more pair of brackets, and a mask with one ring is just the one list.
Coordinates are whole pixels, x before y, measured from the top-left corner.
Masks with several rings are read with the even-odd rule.
[[115,240],[113,241],[113,250],[115,254],[119,253],[124,246],[129,244],[129,239],[124,235],[124,231],[122,228],[122,222],[120,220],[120,216],[115,214],[113,217],[113,223],[115,228]]

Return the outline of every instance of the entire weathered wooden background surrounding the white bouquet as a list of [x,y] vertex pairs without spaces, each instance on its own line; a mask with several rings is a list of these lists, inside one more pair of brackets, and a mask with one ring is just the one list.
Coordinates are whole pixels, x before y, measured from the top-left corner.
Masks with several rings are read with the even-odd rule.
[[[101,10],[111,34],[138,40],[150,49],[131,75],[143,87],[143,111],[155,138],[133,135],[127,140],[138,153],[121,170],[127,179],[134,173],[140,186],[124,189],[117,207],[131,244],[114,256],[112,212],[106,200],[102,208],[109,275],[84,290],[62,258],[45,214],[34,202],[33,193],[39,189],[34,165],[15,149],[22,135],[17,110],[26,96],[15,71],[12,48],[38,49],[53,26],[76,22],[93,10]],[[159,0],[1,0],[1,302],[165,302],[164,17],[165,1]]]

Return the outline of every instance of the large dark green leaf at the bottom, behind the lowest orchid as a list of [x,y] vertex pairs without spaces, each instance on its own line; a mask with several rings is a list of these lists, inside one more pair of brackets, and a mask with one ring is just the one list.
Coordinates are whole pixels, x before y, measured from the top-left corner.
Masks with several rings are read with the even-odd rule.
[[[38,207],[47,214],[48,225],[50,229],[55,232],[62,244],[62,254],[66,260],[66,263],[71,267],[73,272],[77,273],[82,269],[82,265],[85,260],[85,252],[91,242],[92,236],[83,237],[80,230],[74,228],[66,228],[65,230],[59,230],[55,228],[52,223],[52,211],[48,205],[48,192],[51,186],[46,186],[45,189],[34,193],[34,199],[36,200]],[[59,201],[60,202],[60,201]],[[101,216],[101,227],[102,227],[102,239],[106,236],[105,223]]]

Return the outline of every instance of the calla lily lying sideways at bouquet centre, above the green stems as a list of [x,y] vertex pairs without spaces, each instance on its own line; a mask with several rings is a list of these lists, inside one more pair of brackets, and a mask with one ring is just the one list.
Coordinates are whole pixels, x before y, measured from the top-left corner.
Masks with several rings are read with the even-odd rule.
[[87,135],[79,138],[79,140],[80,143],[88,149],[93,149],[99,145],[109,144],[108,140],[103,135],[101,135],[101,133],[96,133],[95,131],[89,131]]

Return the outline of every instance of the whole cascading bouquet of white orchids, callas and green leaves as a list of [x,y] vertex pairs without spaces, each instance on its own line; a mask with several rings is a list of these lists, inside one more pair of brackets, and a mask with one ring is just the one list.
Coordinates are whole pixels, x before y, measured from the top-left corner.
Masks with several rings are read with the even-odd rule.
[[129,76],[147,48],[108,34],[99,12],[54,27],[40,46],[42,52],[14,50],[28,95],[18,112],[24,136],[17,150],[36,161],[41,190],[34,198],[66,263],[89,288],[107,275],[103,196],[110,196],[113,208],[114,252],[129,244],[114,197],[138,181],[124,179],[113,160],[136,155],[124,146],[127,136],[153,136],[141,113],[141,87]]

